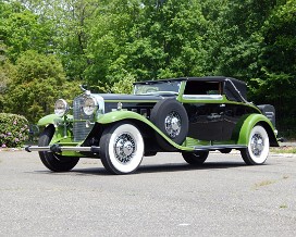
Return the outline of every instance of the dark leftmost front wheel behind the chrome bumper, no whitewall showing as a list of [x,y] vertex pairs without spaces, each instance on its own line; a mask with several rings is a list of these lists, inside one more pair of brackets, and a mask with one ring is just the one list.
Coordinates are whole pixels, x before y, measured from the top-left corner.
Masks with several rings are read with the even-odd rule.
[[[49,125],[45,128],[44,133],[40,135],[38,146],[46,147],[50,144],[50,140],[54,134],[54,127]],[[41,162],[50,171],[54,172],[66,172],[72,170],[79,161],[76,157],[64,157],[48,151],[39,151],[39,157]]]

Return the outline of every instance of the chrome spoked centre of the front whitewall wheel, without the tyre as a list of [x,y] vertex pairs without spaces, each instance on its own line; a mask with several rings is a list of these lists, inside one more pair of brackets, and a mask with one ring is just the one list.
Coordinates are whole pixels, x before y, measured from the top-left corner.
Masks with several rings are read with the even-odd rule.
[[121,163],[130,162],[136,151],[136,142],[132,135],[121,134],[114,144],[114,154]]

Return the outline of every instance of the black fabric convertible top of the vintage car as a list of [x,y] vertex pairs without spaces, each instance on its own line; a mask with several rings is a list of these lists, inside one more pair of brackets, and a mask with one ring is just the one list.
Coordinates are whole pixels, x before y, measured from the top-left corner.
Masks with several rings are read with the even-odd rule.
[[205,76],[205,77],[180,77],[180,78],[169,78],[169,79],[159,79],[159,80],[146,80],[134,83],[134,85],[143,84],[157,84],[157,83],[165,83],[172,80],[198,80],[198,82],[224,82],[223,91],[229,98],[229,100],[247,102],[247,84],[245,82],[225,77],[225,76]]

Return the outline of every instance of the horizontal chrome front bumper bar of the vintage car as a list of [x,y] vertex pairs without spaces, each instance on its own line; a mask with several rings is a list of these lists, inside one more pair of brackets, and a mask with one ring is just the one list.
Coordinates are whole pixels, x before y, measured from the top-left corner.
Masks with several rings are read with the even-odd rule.
[[63,151],[84,151],[84,152],[91,152],[91,153],[98,153],[100,151],[100,147],[91,146],[91,147],[63,147],[60,145],[51,145],[47,147],[38,147],[38,146],[27,146],[25,147],[25,150],[27,152],[32,151],[48,151],[48,152],[54,152],[54,153],[61,153]]

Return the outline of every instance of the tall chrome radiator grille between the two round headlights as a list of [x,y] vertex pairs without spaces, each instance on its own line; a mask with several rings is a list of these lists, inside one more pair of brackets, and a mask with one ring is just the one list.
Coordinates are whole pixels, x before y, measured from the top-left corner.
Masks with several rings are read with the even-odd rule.
[[92,122],[94,116],[86,115],[83,112],[83,97],[76,97],[73,101],[73,117],[74,117],[74,124],[73,124],[73,135],[74,135],[74,141],[82,141],[84,140],[87,135],[92,129],[94,125],[89,124],[86,126],[86,122],[90,121]]

